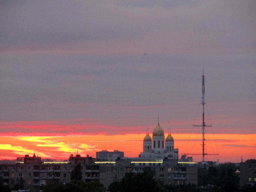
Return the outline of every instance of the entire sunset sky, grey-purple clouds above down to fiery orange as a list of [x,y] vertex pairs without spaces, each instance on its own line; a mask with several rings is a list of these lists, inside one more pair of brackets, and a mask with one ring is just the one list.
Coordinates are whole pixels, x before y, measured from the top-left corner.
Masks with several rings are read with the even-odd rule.
[[[256,158],[256,1],[2,0],[0,159],[142,152]],[[202,156],[193,156],[201,161]]]

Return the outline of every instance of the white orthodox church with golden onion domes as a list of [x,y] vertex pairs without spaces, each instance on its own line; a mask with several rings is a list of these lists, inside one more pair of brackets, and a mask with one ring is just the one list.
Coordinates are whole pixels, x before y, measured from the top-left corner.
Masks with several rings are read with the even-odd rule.
[[164,138],[164,129],[159,125],[153,130],[153,141],[150,135],[146,134],[143,140],[143,152],[140,158],[164,158],[173,157],[178,159],[179,149],[174,149],[174,139],[171,133]]

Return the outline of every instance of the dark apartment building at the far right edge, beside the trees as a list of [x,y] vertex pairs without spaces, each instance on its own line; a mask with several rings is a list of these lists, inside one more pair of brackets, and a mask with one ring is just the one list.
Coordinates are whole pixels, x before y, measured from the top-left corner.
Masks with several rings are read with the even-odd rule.
[[240,186],[254,185],[256,183],[256,162],[240,163]]

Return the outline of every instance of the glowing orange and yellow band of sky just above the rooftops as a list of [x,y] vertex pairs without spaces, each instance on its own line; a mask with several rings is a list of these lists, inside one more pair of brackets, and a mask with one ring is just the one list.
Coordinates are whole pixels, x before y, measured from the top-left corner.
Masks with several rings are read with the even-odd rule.
[[[120,150],[125,157],[138,157],[142,152],[143,134],[117,135],[20,135],[0,136],[1,159],[16,159],[25,154],[42,158],[68,159],[70,153],[87,154],[96,157],[96,151]],[[152,136],[152,135],[151,135]],[[167,134],[165,135],[167,136]],[[172,134],[174,147],[179,148],[179,157],[184,153],[202,153],[201,135]],[[205,160],[220,162],[239,162],[244,159],[256,158],[256,134],[215,134],[206,136],[206,152],[219,153],[219,156],[206,156]],[[211,142],[210,142],[211,141]],[[128,144],[127,144],[128,143]],[[202,156],[193,156],[194,161],[201,161]]]

